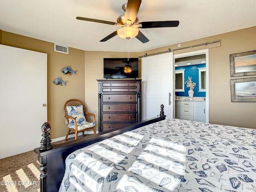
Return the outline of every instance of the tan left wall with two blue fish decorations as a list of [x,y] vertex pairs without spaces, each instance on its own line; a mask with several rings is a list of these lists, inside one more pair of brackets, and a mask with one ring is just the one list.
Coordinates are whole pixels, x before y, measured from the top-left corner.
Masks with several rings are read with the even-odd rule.
[[[2,44],[47,53],[47,91],[48,91],[48,122],[50,123],[51,138],[66,135],[63,105],[71,98],[84,102],[84,51],[69,48],[69,54],[54,52],[54,44],[26,36],[2,31]],[[77,70],[77,75],[63,75],[61,69],[70,66]],[[24,74],[25,75],[25,74]],[[56,86],[55,78],[61,77],[68,81],[66,86]],[[94,78],[95,79],[95,78]]]

